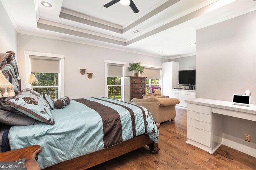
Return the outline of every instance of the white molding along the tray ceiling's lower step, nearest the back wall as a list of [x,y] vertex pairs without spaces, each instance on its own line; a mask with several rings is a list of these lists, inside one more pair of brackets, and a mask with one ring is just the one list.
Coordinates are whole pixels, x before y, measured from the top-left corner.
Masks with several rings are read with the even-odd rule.
[[73,26],[70,26],[70,25],[65,25],[65,24],[62,24],[62,23],[56,23],[56,22],[52,22],[52,21],[48,21],[48,20],[43,20],[43,19],[39,19],[38,23],[42,23],[42,24],[46,24],[46,25],[51,25],[51,26],[54,26],[54,27],[60,27],[60,28],[64,28],[64,29],[69,29],[69,30],[72,30],[72,31],[87,33],[87,34],[90,34],[90,35],[96,35],[96,36],[99,36],[99,37],[113,39],[113,40],[121,41],[121,42],[124,42],[124,43],[126,42],[126,40],[122,39],[122,38],[113,37],[113,36],[110,36],[110,35],[106,35],[106,34],[102,34],[102,33],[97,33],[97,32],[94,32],[94,31],[89,31],[89,30],[86,30],[86,29],[82,29],[82,28],[78,28],[78,27],[73,27]]

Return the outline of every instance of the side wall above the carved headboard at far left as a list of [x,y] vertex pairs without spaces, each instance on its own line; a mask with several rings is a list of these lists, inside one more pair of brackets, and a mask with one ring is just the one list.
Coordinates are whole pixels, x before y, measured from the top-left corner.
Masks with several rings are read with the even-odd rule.
[[14,51],[18,61],[18,33],[0,2],[0,53]]

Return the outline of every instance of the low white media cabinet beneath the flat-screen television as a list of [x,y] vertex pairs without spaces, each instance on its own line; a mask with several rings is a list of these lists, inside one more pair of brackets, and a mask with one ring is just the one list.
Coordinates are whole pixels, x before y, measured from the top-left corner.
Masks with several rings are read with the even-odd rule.
[[172,98],[180,100],[176,106],[187,107],[185,100],[196,98],[196,90],[172,89]]

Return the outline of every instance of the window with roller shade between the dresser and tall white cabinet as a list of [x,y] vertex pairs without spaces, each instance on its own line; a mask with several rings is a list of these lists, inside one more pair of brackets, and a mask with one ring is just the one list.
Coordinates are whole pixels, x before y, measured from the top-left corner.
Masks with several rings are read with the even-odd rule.
[[161,68],[145,67],[142,76],[146,79],[146,94],[149,93],[149,86],[160,86]]

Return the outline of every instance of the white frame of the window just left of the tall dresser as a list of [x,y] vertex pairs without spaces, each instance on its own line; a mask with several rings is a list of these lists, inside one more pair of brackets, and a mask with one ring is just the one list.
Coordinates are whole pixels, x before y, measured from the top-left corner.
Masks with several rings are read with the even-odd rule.
[[[109,60],[104,60],[105,63],[105,97],[108,97],[108,87],[109,86],[121,86],[121,100],[124,101],[124,76],[126,75],[126,62],[120,62],[120,61],[109,61]],[[123,64],[123,77],[121,77],[121,84],[116,84],[116,85],[108,85],[108,65],[107,63],[112,63],[112,64]]]

